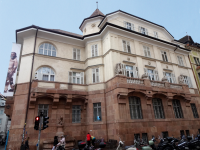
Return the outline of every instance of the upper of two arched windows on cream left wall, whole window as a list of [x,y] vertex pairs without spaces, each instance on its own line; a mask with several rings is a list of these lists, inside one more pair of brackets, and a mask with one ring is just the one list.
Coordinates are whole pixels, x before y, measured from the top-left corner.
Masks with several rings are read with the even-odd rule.
[[56,57],[56,48],[49,43],[43,43],[39,47],[39,54]]

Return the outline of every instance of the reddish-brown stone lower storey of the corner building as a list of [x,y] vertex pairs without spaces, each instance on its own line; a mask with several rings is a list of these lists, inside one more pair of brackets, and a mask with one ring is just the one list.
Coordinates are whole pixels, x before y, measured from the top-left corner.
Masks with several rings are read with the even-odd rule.
[[[55,88],[47,88],[48,84]],[[49,117],[49,127],[42,130],[41,149],[51,149],[58,133],[73,148],[77,141],[85,141],[88,132],[105,141],[119,141],[120,137],[131,145],[135,137],[146,141],[152,135],[178,138],[180,134],[196,135],[200,129],[200,98],[187,85],[124,76],[100,83],[105,89],[94,91],[78,91],[67,83],[64,87],[68,89],[62,89],[63,84],[34,81],[29,102],[29,84],[17,85],[13,106],[9,103],[10,109],[5,111],[10,114],[12,110],[8,150],[19,150],[26,115],[26,136],[30,149],[36,149],[34,120],[41,111]]]

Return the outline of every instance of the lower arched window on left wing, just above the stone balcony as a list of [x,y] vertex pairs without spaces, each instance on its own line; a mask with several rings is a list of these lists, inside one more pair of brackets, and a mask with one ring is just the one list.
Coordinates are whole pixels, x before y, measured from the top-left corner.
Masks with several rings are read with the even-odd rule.
[[49,67],[41,67],[35,74],[35,78],[38,80],[44,81],[54,81],[55,80],[55,73],[53,69]]

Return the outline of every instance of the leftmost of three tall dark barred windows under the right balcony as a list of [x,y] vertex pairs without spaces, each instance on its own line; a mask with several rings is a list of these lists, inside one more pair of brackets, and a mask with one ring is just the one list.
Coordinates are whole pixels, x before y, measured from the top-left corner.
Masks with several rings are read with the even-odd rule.
[[142,119],[142,110],[139,97],[129,97],[131,119]]

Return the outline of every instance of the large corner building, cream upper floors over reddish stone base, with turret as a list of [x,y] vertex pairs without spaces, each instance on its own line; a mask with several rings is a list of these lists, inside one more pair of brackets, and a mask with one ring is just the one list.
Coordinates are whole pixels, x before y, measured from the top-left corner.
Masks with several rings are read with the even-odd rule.
[[12,114],[9,149],[25,122],[34,147],[41,110],[50,117],[43,146],[56,134],[59,116],[63,132],[76,140],[88,131],[127,143],[135,136],[196,133],[199,94],[184,44],[163,26],[121,10],[104,15],[97,9],[80,30],[83,35],[38,26],[16,31],[22,49],[13,112],[19,113]]

